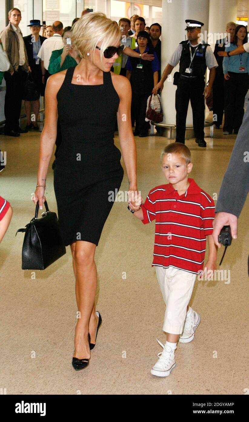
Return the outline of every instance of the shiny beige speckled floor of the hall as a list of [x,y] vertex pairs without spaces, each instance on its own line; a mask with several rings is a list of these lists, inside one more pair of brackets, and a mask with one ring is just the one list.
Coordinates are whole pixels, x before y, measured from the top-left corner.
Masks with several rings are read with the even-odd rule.
[[[77,308],[70,248],[31,279],[31,271],[21,270],[23,234],[15,237],[34,215],[31,194],[39,138],[33,132],[20,138],[0,136],[0,149],[7,151],[0,195],[13,207],[0,245],[1,387],[7,394],[244,394],[249,387],[248,203],[239,218],[238,240],[221,266],[230,270],[230,284],[196,281],[190,305],[201,314],[201,324],[193,342],[178,345],[171,375],[158,379],[150,375],[150,368],[161,351],[156,337],[164,342],[165,334],[164,303],[151,267],[154,224],[142,225],[125,203],[115,202],[96,249],[97,310],[103,324],[89,367],[77,373],[71,365]],[[235,136],[222,138],[222,130],[215,130],[214,139],[206,141],[206,149],[193,139],[186,141],[193,159],[190,177],[213,195],[219,193]],[[138,187],[144,198],[164,183],[160,153],[170,142],[157,136],[136,137]],[[115,143],[119,146],[117,135]],[[126,175],[121,189],[128,189]],[[51,165],[47,191],[49,207],[56,210]],[[36,357],[31,358],[34,352]]]

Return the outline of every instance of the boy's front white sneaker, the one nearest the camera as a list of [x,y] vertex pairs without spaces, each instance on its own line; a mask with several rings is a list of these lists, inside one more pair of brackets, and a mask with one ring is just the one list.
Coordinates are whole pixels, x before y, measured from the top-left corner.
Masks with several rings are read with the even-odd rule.
[[174,350],[170,346],[163,346],[158,339],[157,341],[163,347],[163,351],[158,353],[159,359],[150,370],[150,373],[155,376],[169,376],[172,369],[176,366]]

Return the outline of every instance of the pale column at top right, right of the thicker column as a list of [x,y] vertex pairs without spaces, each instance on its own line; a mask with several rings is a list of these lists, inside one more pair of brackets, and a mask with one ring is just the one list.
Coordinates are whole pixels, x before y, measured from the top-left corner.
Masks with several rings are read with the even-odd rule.
[[226,32],[226,24],[237,19],[237,0],[209,0],[209,44],[214,44],[219,34]]

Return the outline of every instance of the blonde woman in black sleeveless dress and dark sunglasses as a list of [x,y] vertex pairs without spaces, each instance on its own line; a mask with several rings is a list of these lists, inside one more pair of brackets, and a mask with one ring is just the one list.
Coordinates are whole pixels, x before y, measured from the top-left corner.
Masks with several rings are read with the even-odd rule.
[[[97,286],[94,254],[113,205],[108,200],[110,191],[117,192],[123,179],[121,154],[113,141],[116,118],[129,181],[127,188],[131,195],[137,193],[131,86],[127,78],[110,72],[119,54],[120,37],[115,22],[104,14],[85,14],[72,30],[72,44],[82,60],[50,76],[46,86],[46,119],[34,202],[38,200],[42,208],[46,199],[46,176],[59,116],[62,144],[54,168],[54,190],[64,243],[70,245],[72,252],[80,311],[72,358],[75,370],[88,365],[102,321],[94,305]],[[134,203],[130,208],[138,210],[139,205]]]

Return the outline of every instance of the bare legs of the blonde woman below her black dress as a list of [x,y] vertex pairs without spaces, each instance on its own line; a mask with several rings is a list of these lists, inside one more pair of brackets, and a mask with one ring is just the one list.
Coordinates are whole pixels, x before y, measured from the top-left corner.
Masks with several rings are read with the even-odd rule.
[[86,241],[76,241],[70,246],[76,279],[76,301],[78,311],[80,311],[80,318],[78,319],[75,329],[75,353],[73,356],[78,359],[89,359],[90,349],[88,332],[90,330],[90,319],[92,320],[91,328],[94,327],[94,330],[91,329],[92,339],[94,340],[98,324],[98,318],[95,314],[94,307],[97,286],[97,272],[94,262],[96,245]]

